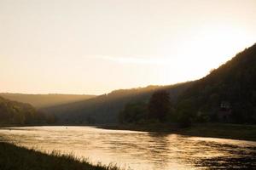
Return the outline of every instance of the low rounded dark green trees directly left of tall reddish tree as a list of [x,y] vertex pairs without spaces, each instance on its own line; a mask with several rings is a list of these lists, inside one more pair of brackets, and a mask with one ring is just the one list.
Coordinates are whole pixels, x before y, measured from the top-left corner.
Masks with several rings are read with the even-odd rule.
[[148,105],[143,102],[125,105],[119,114],[119,122],[133,123],[144,122],[147,119]]

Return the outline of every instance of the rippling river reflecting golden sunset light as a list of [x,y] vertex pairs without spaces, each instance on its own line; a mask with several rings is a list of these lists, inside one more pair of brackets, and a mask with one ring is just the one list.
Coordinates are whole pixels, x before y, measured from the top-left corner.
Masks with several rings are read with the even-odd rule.
[[256,142],[96,127],[8,127],[2,140],[42,151],[60,150],[125,169],[254,169]]

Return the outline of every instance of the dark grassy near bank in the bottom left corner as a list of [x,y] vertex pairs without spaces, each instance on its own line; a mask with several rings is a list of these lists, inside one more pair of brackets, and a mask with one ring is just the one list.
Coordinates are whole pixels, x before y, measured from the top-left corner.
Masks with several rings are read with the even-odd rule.
[[118,170],[118,167],[91,165],[88,161],[54,151],[44,154],[37,150],[0,142],[1,170]]

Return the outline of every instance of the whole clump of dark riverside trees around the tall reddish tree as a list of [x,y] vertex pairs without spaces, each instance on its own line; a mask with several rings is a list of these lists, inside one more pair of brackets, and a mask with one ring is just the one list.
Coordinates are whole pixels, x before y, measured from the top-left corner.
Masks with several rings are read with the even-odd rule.
[[191,119],[187,112],[176,111],[170,94],[159,90],[152,94],[148,103],[137,102],[125,105],[119,113],[121,123],[177,123],[179,127],[189,127]]

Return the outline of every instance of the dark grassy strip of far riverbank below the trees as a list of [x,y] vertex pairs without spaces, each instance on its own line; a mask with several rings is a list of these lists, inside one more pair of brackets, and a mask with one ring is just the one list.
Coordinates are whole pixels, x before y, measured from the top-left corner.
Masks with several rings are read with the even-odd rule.
[[256,141],[256,125],[201,123],[186,128],[178,128],[174,124],[126,124],[99,127],[115,130],[134,130],[149,133],[177,133],[195,137]]

